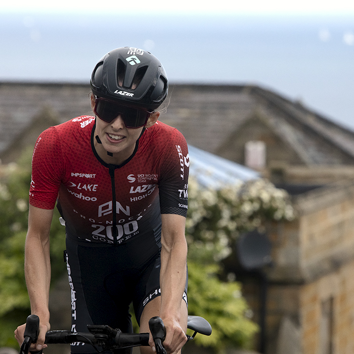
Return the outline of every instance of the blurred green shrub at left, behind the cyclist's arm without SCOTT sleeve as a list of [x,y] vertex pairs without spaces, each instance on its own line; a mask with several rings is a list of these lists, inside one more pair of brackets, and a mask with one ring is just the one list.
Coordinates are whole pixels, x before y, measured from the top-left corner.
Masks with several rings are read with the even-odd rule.
[[[0,181],[0,347],[17,347],[14,330],[26,321],[30,303],[24,276],[31,151],[18,164],[1,166]],[[51,228],[52,284],[63,274],[65,230],[56,210]]]

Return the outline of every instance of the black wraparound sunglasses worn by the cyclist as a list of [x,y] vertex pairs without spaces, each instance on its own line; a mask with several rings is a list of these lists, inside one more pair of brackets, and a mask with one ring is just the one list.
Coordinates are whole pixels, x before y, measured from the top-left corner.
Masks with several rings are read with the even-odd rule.
[[146,125],[149,117],[154,113],[154,111],[149,112],[141,108],[124,106],[101,97],[95,99],[94,112],[100,119],[107,123],[110,123],[120,115],[127,128],[140,128]]

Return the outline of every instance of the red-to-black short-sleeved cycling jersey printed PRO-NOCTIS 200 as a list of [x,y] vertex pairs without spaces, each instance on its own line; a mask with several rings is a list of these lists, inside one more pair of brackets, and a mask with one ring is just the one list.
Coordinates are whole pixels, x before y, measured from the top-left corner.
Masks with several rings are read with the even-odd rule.
[[161,214],[187,214],[189,155],[183,135],[156,122],[123,165],[94,148],[95,118],[80,116],[43,131],[32,157],[30,204],[58,209],[68,237],[121,244],[160,242]]

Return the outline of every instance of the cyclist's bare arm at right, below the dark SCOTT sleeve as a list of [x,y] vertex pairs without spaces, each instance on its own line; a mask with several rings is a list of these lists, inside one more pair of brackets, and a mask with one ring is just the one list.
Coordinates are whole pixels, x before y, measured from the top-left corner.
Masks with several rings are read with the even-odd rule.
[[181,318],[187,274],[186,218],[176,214],[162,214],[161,218],[160,317],[166,327],[165,348],[177,352],[187,340],[186,328],[182,328],[187,318]]

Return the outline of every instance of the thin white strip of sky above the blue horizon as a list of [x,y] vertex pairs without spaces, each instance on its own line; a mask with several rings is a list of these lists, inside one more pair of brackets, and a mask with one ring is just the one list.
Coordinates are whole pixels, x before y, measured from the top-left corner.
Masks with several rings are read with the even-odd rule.
[[17,0],[1,5],[3,11],[31,12],[94,12],[94,13],[172,13],[172,14],[345,14],[354,13],[354,3],[348,0]]

